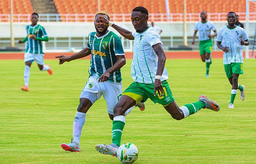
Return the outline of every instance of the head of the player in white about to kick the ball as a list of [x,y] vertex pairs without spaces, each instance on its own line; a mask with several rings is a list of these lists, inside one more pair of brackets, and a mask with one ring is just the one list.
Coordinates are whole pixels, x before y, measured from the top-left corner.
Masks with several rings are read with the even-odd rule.
[[131,13],[131,22],[134,29],[139,33],[148,27],[148,10],[145,7],[137,6]]

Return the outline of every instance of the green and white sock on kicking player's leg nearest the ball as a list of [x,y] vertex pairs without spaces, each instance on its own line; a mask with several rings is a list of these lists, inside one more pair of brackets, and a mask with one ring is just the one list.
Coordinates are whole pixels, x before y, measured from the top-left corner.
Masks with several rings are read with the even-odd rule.
[[120,146],[123,128],[125,127],[125,116],[116,116],[113,120],[112,143]]

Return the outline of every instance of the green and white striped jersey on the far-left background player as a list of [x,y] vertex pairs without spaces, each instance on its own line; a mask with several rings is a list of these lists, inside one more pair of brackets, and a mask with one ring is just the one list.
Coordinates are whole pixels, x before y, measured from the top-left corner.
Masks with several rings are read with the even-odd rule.
[[31,35],[35,35],[35,37],[47,37],[47,33],[43,26],[37,24],[35,26],[27,25],[27,48],[26,52],[31,54],[43,54],[43,47],[41,40],[30,39]]

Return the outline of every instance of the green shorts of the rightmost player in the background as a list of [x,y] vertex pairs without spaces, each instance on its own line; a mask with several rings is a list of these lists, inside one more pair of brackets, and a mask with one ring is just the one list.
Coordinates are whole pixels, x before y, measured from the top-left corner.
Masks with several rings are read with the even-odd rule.
[[231,78],[233,76],[233,73],[244,74],[243,63],[224,64],[224,68],[225,68],[227,78]]

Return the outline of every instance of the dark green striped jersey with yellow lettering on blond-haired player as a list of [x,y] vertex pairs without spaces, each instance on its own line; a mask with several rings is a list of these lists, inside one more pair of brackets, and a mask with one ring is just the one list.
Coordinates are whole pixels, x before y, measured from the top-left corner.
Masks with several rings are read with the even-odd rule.
[[[97,37],[96,32],[90,33],[87,48],[91,49],[90,75],[101,76],[117,62],[117,55],[125,55],[121,39],[112,31],[101,37]],[[108,81],[121,82],[120,69],[111,73]]]

